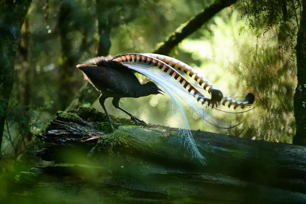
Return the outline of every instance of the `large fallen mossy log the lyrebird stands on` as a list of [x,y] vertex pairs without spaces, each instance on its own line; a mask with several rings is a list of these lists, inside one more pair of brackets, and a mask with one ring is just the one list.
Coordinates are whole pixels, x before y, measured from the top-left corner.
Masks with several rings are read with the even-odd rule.
[[306,203],[306,147],[192,131],[203,165],[190,157],[175,128],[112,119],[122,125],[110,133],[105,114],[94,108],[58,112],[43,134],[35,134],[46,144],[36,156],[69,165],[21,172],[14,199]]

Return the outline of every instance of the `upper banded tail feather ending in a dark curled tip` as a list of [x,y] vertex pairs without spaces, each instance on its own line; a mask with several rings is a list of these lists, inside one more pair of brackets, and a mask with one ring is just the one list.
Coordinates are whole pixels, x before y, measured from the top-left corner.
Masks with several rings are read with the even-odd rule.
[[238,106],[240,106],[243,109],[244,106],[251,105],[255,101],[255,96],[252,93],[249,93],[245,97],[244,101],[233,100],[232,98],[223,94],[217,87],[215,87],[204,76],[196,72],[196,70],[194,70],[192,67],[185,64],[182,61],[179,61],[172,57],[161,55],[161,54],[144,53],[142,55],[154,57],[156,59],[159,59],[160,61],[163,61],[164,63],[166,63],[167,65],[171,66],[172,68],[176,70],[183,71],[184,73],[192,77],[195,81],[197,81],[204,90],[207,90],[211,94],[211,98],[213,100],[217,100],[218,102],[221,102],[221,100],[223,99],[223,102],[222,102],[223,106],[225,106],[226,102],[229,102],[228,104],[229,108],[230,106],[234,105],[233,107],[234,109],[236,109]]

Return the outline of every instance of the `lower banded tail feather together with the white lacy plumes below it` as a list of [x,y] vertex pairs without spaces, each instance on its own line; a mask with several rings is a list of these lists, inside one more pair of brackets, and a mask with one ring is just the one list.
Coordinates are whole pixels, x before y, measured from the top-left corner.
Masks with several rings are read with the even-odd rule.
[[[220,126],[217,120],[207,114],[206,107],[203,106],[203,102],[210,101],[210,99],[201,94],[179,72],[154,57],[141,54],[125,54],[116,56],[112,60],[121,62],[129,69],[149,77],[170,95],[176,105],[176,109],[173,110],[176,110],[181,115],[180,118],[182,119],[182,123],[179,125],[179,133],[185,136],[185,143],[187,142],[188,148],[191,148],[192,157],[200,158],[200,161],[203,162],[205,158],[200,154],[192,138],[185,110],[179,101],[179,98],[186,102],[186,104],[190,106],[191,109],[194,110],[203,120],[209,120],[210,124]],[[199,98],[202,100],[204,97],[206,100],[203,100],[202,103],[198,103]]]

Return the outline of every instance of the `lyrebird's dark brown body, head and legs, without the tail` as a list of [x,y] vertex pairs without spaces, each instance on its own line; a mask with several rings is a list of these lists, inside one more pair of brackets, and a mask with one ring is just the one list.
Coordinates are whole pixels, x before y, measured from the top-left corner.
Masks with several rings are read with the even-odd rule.
[[120,62],[111,61],[111,58],[111,56],[95,57],[76,67],[82,70],[85,79],[101,92],[99,102],[112,128],[113,122],[104,106],[105,99],[110,97],[113,98],[112,104],[115,108],[128,114],[136,123],[138,123],[137,121],[145,123],[121,108],[119,106],[120,98],[139,98],[152,94],[160,94],[163,91],[151,81],[141,84],[131,69],[125,67]]

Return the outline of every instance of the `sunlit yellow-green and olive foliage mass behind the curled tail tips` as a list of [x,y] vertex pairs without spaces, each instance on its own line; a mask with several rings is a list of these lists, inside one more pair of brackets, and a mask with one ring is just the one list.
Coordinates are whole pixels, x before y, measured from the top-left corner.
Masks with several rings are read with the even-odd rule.
[[[197,119],[198,125],[212,132],[290,143],[295,132],[293,94],[296,86],[291,41],[280,44],[275,29],[257,36],[252,29],[244,28],[245,18],[237,21],[239,15],[234,11],[228,20],[216,17],[211,35],[200,40],[187,39],[180,47],[200,61],[199,71],[223,93],[241,100],[250,91],[255,94],[258,106],[242,114],[212,111],[221,124],[237,124],[243,120],[237,128],[221,130],[204,126],[200,119]],[[239,35],[242,29],[243,35]],[[233,112],[226,107],[219,108]]]

